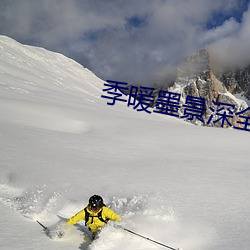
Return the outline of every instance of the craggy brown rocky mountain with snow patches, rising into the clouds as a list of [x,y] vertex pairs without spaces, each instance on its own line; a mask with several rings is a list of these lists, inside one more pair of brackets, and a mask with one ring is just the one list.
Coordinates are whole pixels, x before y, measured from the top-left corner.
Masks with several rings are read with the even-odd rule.
[[[247,99],[248,73],[247,69],[237,72],[217,72],[209,51],[202,49],[188,57],[178,67],[176,79],[170,86],[156,90],[157,93],[168,91],[180,96],[181,107],[178,109],[178,117],[184,118],[185,121],[210,127],[237,127],[243,122],[242,117],[239,116],[243,110],[245,110],[244,116],[250,117],[248,109],[250,101]],[[156,98],[152,106],[157,106],[157,102]],[[189,106],[188,111],[185,106]],[[220,109],[223,110],[219,112]],[[190,116],[191,111],[193,111],[193,117]],[[223,124],[220,118],[224,111],[228,122]]]

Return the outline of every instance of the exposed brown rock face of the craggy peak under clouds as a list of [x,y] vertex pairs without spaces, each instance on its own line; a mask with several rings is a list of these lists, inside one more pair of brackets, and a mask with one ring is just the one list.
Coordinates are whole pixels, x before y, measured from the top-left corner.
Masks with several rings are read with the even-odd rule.
[[[211,69],[209,53],[203,49],[187,58],[178,68],[177,78],[167,90],[181,95],[180,117],[185,113],[183,104],[185,104],[187,96],[204,98],[206,110],[202,113],[202,119],[197,119],[194,116],[190,122],[204,126],[221,127],[223,125],[223,127],[231,127],[230,124],[236,126],[237,122],[242,120],[232,113],[235,114],[248,107],[245,101],[232,94],[244,93],[245,97],[250,97],[249,86],[250,67],[242,71],[215,75]],[[225,103],[225,105],[221,103]],[[225,120],[225,123],[222,124],[223,120],[220,120],[214,123],[220,118],[220,115],[216,112],[223,107],[224,109],[221,112],[225,110],[225,114],[228,115],[228,122]],[[250,112],[247,112],[247,116],[250,116]],[[185,120],[188,121],[188,118],[185,118]],[[239,124],[237,126],[239,127]]]

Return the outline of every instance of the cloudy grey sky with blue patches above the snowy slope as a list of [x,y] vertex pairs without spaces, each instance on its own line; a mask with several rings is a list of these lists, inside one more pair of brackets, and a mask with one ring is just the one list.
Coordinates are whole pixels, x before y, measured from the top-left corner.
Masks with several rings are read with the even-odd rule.
[[250,63],[249,0],[1,0],[0,34],[63,53],[102,79],[151,85],[201,48]]

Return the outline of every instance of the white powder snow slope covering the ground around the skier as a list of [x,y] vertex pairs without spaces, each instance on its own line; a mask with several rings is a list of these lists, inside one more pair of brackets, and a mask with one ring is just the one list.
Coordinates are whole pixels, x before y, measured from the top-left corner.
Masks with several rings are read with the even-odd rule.
[[99,194],[123,227],[173,248],[249,250],[250,133],[110,106],[104,88],[0,37],[0,249],[167,249],[112,223],[92,243],[84,222],[61,239],[36,223],[53,232]]

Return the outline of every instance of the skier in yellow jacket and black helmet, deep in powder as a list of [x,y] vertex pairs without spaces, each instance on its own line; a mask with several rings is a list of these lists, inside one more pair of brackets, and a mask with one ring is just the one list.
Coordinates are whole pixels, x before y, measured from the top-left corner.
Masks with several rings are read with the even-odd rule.
[[113,210],[105,206],[101,196],[95,194],[89,198],[89,204],[72,216],[67,224],[74,225],[80,220],[85,220],[85,226],[92,232],[92,238],[94,239],[109,220],[120,222],[122,219]]

